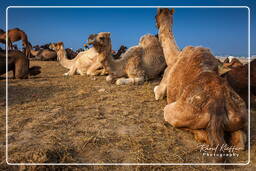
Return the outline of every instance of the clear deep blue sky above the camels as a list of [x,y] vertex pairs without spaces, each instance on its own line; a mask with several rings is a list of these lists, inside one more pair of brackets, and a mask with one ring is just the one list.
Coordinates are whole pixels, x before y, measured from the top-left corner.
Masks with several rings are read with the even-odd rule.
[[[1,4],[0,28],[5,29],[5,8],[10,5],[153,5],[153,6],[189,6],[189,5],[246,5],[251,9],[251,52],[255,49],[255,2],[253,1],[80,1],[54,3],[51,1],[8,1]],[[139,38],[146,34],[156,34],[154,8],[83,8],[83,9],[24,9],[11,8],[9,28],[24,30],[33,44],[63,41],[65,47],[77,49],[91,33],[111,32],[113,49],[120,45],[136,45]],[[174,34],[180,48],[187,45],[205,46],[215,55],[247,56],[248,48],[248,10],[243,9],[198,9],[177,8],[174,14]]]

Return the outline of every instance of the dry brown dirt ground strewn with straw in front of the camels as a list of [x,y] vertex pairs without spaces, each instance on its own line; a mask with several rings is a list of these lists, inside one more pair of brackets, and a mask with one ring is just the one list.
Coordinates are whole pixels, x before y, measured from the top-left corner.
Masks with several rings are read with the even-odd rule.
[[[9,79],[10,163],[203,163],[193,136],[164,122],[158,81],[116,86],[104,76],[63,76],[57,62],[32,61],[42,73]],[[10,74],[11,76],[11,74]],[[223,170],[216,166],[8,166],[5,162],[5,79],[0,80],[0,170]],[[251,163],[256,170],[256,111],[251,113]],[[247,162],[248,149],[230,162]]]

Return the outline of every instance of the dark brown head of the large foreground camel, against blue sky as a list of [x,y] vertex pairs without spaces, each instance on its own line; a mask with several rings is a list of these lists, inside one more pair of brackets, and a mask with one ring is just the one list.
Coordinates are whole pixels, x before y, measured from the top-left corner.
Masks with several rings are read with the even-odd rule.
[[156,27],[159,29],[161,25],[167,25],[168,28],[173,24],[174,9],[158,8],[156,18]]

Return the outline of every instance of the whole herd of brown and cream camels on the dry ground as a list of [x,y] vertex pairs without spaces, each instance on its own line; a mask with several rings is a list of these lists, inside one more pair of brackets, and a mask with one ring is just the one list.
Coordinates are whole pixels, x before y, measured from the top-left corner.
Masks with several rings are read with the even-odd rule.
[[[116,85],[142,84],[162,76],[153,92],[156,100],[167,98],[165,121],[192,132],[196,140],[212,147],[230,144],[245,149],[248,64],[238,59],[221,62],[204,47],[187,46],[180,50],[172,31],[173,14],[174,9],[158,9],[155,17],[158,34],[146,34],[138,45],[129,49],[121,46],[117,53],[113,53],[109,32],[92,34],[88,38],[88,45],[92,47],[76,53],[72,59],[68,58],[63,42],[32,50],[23,31],[9,30],[9,47],[12,48],[14,41],[22,40],[24,53],[9,50],[8,70],[13,70],[17,78],[40,73],[39,67],[29,68],[28,58],[32,54],[40,59],[57,58],[69,69],[66,76],[107,75],[106,81]],[[0,30],[0,42],[5,43],[5,38],[6,33]],[[0,74],[4,74],[5,51],[0,51],[0,57]],[[250,64],[253,99],[256,96],[256,60]],[[225,160],[215,158],[216,162]]]

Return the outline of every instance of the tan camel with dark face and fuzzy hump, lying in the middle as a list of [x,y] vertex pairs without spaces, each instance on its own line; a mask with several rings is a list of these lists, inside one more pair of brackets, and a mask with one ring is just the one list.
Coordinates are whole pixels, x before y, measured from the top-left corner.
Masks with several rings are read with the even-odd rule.
[[99,53],[99,62],[109,73],[106,80],[117,85],[141,84],[145,80],[158,77],[166,67],[160,43],[151,34],[142,36],[139,45],[129,48],[122,58],[117,60],[113,59],[111,53],[109,32],[91,35],[88,43],[95,47]]

